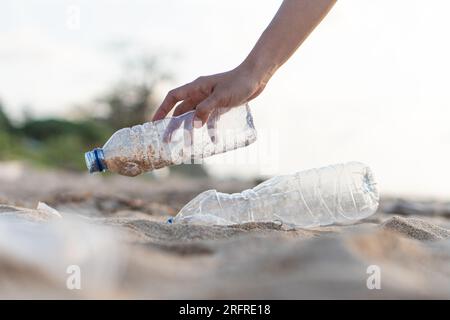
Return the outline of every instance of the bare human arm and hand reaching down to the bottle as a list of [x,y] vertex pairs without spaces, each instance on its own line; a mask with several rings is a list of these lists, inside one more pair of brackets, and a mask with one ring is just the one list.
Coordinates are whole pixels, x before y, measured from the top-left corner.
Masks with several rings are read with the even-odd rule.
[[153,120],[195,109],[194,125],[202,126],[221,107],[236,107],[257,97],[326,16],[336,0],[284,0],[247,58],[233,70],[199,77],[169,91]]

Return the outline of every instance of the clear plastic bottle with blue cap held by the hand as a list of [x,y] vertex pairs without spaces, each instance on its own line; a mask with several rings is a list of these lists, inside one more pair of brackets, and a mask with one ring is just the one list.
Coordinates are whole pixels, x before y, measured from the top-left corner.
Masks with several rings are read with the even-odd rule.
[[86,152],[88,170],[91,173],[109,170],[133,177],[169,165],[198,163],[256,140],[248,105],[216,109],[201,128],[195,128],[193,121],[194,111],[190,111],[121,129],[103,148]]

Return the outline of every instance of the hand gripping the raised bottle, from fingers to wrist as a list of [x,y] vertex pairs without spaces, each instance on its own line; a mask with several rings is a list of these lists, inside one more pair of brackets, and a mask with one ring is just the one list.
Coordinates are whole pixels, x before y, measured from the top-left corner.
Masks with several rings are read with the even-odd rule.
[[153,116],[153,121],[163,119],[175,108],[173,116],[195,110],[193,124],[202,127],[218,108],[237,107],[257,97],[267,81],[240,65],[236,69],[211,76],[199,77],[193,82],[169,91]]

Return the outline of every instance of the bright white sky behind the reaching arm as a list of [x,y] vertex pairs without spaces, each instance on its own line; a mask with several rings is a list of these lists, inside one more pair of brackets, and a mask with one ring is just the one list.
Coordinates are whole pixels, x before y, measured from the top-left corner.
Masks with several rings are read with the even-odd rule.
[[[0,99],[67,116],[160,57],[164,93],[238,65],[281,1],[0,0]],[[258,141],[210,158],[218,177],[370,165],[383,193],[448,197],[450,2],[339,0],[250,103]],[[44,76],[43,76],[44,75]]]

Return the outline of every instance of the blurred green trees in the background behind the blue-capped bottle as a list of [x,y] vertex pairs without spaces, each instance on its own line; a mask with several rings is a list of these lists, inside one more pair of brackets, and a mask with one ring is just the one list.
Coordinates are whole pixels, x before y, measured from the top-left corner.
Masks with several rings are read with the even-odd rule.
[[[126,65],[124,76],[98,99],[78,107],[75,119],[26,116],[13,124],[0,102],[0,161],[25,160],[38,166],[86,171],[84,152],[102,146],[118,129],[149,121],[158,106],[156,87],[170,76],[155,59]],[[102,109],[102,113],[94,112]],[[200,165],[170,168],[190,176],[206,176]]]

